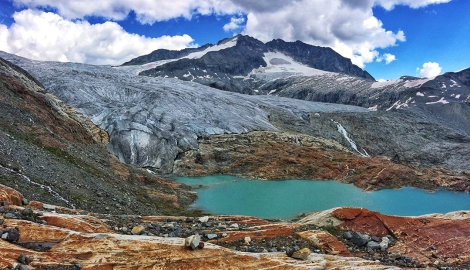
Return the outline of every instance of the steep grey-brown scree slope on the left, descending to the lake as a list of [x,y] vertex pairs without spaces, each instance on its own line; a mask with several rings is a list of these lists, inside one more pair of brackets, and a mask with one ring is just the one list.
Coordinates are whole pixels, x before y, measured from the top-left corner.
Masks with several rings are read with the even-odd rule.
[[[1,184],[28,199],[96,212],[172,212],[195,199],[178,184],[120,163],[107,143],[104,130],[0,58]],[[21,202],[6,193],[9,202]]]

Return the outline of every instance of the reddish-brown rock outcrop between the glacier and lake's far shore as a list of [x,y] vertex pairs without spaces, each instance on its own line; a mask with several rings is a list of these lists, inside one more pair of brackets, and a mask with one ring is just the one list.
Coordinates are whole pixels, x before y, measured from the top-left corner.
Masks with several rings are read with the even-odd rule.
[[336,179],[365,190],[408,185],[468,191],[470,181],[468,174],[361,157],[321,137],[263,131],[202,137],[197,150],[178,157],[173,171],[188,176],[231,174],[268,180]]

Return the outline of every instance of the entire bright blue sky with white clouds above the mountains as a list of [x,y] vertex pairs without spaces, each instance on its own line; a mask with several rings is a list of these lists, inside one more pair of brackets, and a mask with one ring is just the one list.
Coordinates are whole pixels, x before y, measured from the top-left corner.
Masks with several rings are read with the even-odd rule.
[[470,67],[470,0],[0,0],[0,50],[119,65],[236,34],[331,47],[377,80]]

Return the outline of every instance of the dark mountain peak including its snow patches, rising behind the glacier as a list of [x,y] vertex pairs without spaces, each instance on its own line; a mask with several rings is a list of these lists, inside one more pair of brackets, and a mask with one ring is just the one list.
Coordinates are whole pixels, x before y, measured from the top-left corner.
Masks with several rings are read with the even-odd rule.
[[[273,40],[263,43],[249,36],[238,35],[221,40],[217,45],[205,47],[206,49],[193,54],[182,51],[181,55],[184,56],[174,59],[168,59],[167,55],[159,58],[159,51],[155,51],[124,65],[132,69],[135,67],[129,66],[129,63],[142,63],[145,68],[139,70],[140,75],[179,78],[245,94],[253,94],[253,88],[264,81],[251,76],[253,72],[272,65],[290,63],[289,61],[298,63],[304,69],[337,72],[374,80],[369,73],[332,49],[308,45],[301,41]],[[273,53],[287,57],[288,60],[282,57],[267,57]],[[279,73],[278,76],[292,76],[299,71],[286,68]]]

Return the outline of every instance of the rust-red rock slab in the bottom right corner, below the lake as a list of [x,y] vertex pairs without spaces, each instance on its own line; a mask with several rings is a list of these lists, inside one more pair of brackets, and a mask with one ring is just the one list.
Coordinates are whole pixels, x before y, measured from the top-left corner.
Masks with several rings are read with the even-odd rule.
[[339,208],[307,216],[300,223],[335,225],[369,235],[391,235],[397,239],[389,248],[424,265],[470,262],[470,215],[468,211],[419,217],[387,216],[363,208]]

